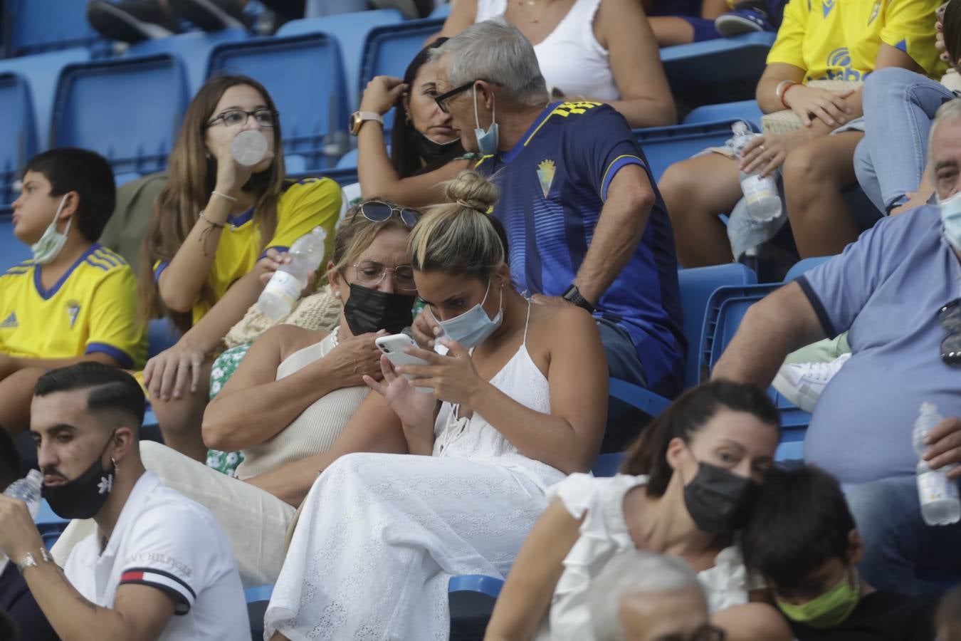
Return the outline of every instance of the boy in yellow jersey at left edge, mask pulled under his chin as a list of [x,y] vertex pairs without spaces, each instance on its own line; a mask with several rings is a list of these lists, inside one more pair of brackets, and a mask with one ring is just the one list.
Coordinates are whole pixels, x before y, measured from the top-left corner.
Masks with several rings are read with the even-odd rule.
[[45,371],[81,360],[143,364],[134,273],[96,242],[114,199],[111,166],[93,152],[53,149],[27,164],[13,234],[33,259],[0,276],[0,425],[13,434],[29,427]]

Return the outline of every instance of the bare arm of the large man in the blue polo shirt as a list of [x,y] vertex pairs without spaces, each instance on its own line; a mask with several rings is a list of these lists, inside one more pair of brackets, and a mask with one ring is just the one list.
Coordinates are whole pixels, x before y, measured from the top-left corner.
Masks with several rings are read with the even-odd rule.
[[824,337],[801,285],[786,284],[748,309],[711,378],[767,387],[788,354]]

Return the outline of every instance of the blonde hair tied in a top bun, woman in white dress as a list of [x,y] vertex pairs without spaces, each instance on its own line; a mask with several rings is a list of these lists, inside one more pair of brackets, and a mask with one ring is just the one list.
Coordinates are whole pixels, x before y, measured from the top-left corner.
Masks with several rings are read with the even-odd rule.
[[407,238],[413,268],[487,280],[506,259],[503,228],[488,212],[500,190],[475,171],[444,183],[450,201],[431,207]]

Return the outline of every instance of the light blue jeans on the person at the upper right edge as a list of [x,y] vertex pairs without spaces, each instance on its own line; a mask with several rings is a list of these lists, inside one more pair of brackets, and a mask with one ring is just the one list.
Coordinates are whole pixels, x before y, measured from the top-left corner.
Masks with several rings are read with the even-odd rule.
[[953,97],[941,83],[900,67],[878,69],[864,81],[865,136],[854,152],[854,172],[882,213],[921,185],[931,121]]

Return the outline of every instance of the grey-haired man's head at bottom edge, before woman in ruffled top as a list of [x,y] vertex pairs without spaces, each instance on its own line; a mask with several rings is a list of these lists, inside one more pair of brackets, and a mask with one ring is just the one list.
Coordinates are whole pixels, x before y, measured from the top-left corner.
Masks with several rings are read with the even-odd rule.
[[697,575],[677,556],[625,552],[607,563],[590,590],[595,641],[723,638],[708,623]]

